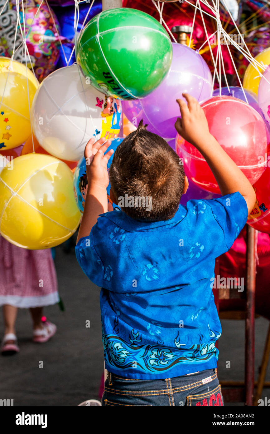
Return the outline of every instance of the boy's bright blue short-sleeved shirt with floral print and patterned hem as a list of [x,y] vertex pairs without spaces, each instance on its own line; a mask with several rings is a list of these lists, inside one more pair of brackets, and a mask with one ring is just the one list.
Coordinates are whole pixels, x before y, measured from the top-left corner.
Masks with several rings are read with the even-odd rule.
[[212,293],[215,258],[247,221],[239,192],[192,200],[171,220],[101,214],[76,246],[101,286],[105,366],[128,378],[171,378],[215,368],[221,324]]

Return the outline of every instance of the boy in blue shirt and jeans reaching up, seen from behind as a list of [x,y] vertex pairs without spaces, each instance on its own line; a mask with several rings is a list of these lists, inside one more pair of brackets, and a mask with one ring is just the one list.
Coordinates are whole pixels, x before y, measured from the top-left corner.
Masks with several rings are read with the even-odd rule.
[[[106,213],[113,152],[104,152],[110,142],[91,139],[85,148],[90,182],[76,256],[102,287],[108,371],[102,405],[223,405],[215,347],[221,324],[211,282],[215,258],[233,244],[256,196],[209,133],[198,102],[183,96],[187,105],[177,100],[176,130],[208,162],[221,198],[179,205],[188,188],[183,166],[166,141],[140,122],[118,146],[110,168],[112,201],[127,194],[130,206]],[[146,197],[152,204],[147,209]]]

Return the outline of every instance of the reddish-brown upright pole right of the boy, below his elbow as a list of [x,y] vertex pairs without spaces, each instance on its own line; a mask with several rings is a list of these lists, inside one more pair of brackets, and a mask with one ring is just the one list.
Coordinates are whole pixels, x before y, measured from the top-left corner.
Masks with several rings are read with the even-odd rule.
[[247,225],[247,307],[245,322],[245,405],[253,404],[254,340],[255,340],[255,284],[256,230]]

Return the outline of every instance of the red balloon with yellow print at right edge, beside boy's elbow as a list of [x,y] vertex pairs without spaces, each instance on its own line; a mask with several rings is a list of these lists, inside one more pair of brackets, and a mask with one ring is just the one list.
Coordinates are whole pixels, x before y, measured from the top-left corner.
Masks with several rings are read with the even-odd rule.
[[253,188],[256,203],[247,217],[247,223],[254,229],[270,233],[270,154],[264,159],[266,169]]

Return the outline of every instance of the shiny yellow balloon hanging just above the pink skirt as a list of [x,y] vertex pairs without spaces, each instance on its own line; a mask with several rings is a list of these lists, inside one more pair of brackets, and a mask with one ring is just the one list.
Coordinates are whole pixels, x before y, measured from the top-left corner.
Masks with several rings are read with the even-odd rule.
[[0,234],[31,250],[63,243],[81,219],[72,171],[44,154],[22,155],[12,163],[0,172]]

